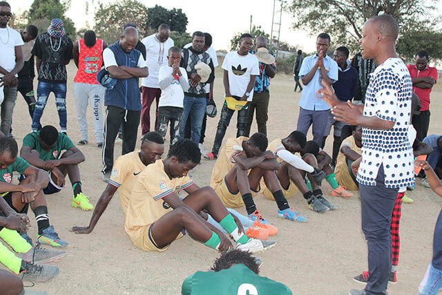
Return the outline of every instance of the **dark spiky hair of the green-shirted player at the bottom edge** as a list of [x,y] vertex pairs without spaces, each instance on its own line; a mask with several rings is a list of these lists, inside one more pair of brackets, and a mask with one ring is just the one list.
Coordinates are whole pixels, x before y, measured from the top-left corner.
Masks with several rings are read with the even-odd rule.
[[215,260],[213,267],[211,267],[210,270],[212,272],[219,272],[221,269],[229,269],[233,265],[238,264],[249,267],[249,269],[255,274],[259,274],[260,272],[259,265],[256,263],[256,259],[251,256],[251,253],[238,249],[222,254]]

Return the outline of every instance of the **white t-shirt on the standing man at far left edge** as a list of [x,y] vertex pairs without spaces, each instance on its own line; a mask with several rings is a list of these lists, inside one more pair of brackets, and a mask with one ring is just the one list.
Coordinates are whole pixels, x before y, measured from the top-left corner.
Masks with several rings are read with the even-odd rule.
[[15,47],[23,46],[24,42],[20,33],[8,26],[0,28],[0,38],[0,66],[10,72],[15,68]]

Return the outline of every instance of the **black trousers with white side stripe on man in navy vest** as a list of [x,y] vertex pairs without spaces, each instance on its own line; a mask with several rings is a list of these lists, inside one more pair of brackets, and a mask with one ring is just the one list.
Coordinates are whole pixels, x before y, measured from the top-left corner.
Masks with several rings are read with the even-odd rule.
[[106,120],[104,122],[103,173],[112,171],[113,148],[119,126],[123,127],[122,155],[135,150],[138,125],[140,125],[140,111],[128,111],[117,106],[106,106]]

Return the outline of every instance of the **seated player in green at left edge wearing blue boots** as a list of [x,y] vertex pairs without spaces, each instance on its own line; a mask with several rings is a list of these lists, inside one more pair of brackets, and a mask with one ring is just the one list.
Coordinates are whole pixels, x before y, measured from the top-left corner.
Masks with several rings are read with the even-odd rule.
[[[40,242],[52,247],[66,247],[68,243],[60,240],[54,227],[49,224],[48,206],[41,190],[48,185],[48,174],[17,157],[17,153],[17,142],[13,138],[0,138],[0,194],[3,200],[17,213],[26,214],[28,207],[34,211],[39,229],[37,239]],[[14,171],[25,177],[19,184],[11,183]],[[26,233],[23,236],[29,238]]]

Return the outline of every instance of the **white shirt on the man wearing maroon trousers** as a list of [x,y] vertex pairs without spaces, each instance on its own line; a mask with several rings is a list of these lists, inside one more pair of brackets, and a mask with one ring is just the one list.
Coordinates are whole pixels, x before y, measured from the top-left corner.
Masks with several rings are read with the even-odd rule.
[[149,75],[141,79],[141,85],[149,88],[160,88],[158,72],[162,66],[167,66],[169,48],[174,45],[171,38],[161,43],[155,36],[156,34],[153,34],[141,40],[146,46],[146,64],[149,69]]

